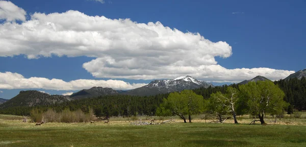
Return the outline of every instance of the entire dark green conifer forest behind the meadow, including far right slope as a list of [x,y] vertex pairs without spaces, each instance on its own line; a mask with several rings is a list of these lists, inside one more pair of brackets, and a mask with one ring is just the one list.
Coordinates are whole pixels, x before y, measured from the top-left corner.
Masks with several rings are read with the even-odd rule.
[[[301,80],[293,78],[290,80],[275,81],[274,84],[278,85],[285,92],[284,101],[290,103],[294,109],[299,111],[306,110],[306,79],[303,77]],[[237,84],[229,85],[231,87],[239,89]],[[227,89],[227,85],[198,88],[193,91],[196,94],[202,95],[203,99],[209,99],[212,93],[220,91],[224,93]],[[70,109],[75,111],[81,109],[83,112],[88,112],[90,108],[93,108],[95,115],[97,116],[136,116],[136,115],[156,115],[156,110],[163,99],[167,98],[169,93],[158,94],[152,96],[132,96],[132,95],[105,95],[98,96],[89,99],[74,100],[70,102],[63,102],[60,104],[48,105],[48,106],[36,106],[36,107],[10,107],[1,109],[1,114],[13,114],[13,115],[30,115],[30,111],[34,108],[40,111],[46,111],[51,108],[57,112],[61,112],[64,109]]]

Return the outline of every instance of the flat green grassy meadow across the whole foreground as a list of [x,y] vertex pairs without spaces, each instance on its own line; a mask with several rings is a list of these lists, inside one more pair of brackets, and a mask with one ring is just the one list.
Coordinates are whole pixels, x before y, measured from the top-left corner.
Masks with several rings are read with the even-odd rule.
[[177,120],[132,126],[127,120],[111,119],[109,124],[46,123],[35,127],[33,122],[21,122],[22,118],[0,115],[0,146],[306,146],[306,126],[300,124],[234,125],[232,120],[227,124],[206,124],[204,120],[184,124]]

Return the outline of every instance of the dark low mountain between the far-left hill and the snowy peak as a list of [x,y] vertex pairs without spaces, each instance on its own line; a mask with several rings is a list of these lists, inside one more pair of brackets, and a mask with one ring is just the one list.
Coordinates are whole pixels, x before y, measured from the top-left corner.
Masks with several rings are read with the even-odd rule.
[[83,89],[78,92],[75,92],[71,94],[69,97],[73,100],[78,100],[78,99],[85,99],[89,97],[95,97],[95,96],[101,96],[101,95],[111,95],[111,94],[118,94],[118,93],[119,93],[118,91],[112,88],[92,87],[90,89]]

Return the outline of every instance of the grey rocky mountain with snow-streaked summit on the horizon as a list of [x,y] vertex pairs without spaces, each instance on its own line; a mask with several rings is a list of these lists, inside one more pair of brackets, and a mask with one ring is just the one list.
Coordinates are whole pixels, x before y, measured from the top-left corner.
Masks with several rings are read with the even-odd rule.
[[196,89],[200,87],[213,86],[211,83],[196,80],[190,76],[182,76],[171,80],[154,80],[148,85],[140,88],[129,90],[122,94],[129,95],[155,95],[160,93],[168,93],[174,91],[182,91],[185,89]]

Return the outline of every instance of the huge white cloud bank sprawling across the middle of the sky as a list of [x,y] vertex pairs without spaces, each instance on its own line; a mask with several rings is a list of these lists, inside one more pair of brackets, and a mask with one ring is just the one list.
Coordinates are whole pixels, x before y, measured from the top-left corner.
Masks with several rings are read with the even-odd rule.
[[[230,57],[229,44],[212,42],[199,33],[171,29],[161,22],[137,23],[72,10],[36,12],[25,20],[26,13],[21,8],[3,5],[0,8],[14,9],[6,11],[9,14],[0,13],[0,18],[6,19],[0,24],[0,56],[95,57],[84,63],[83,68],[97,78],[151,80],[190,75],[205,81],[240,82],[259,75],[271,80],[284,79],[294,72],[271,68],[226,69],[217,64],[215,57]],[[14,19],[22,23],[15,23]]]

